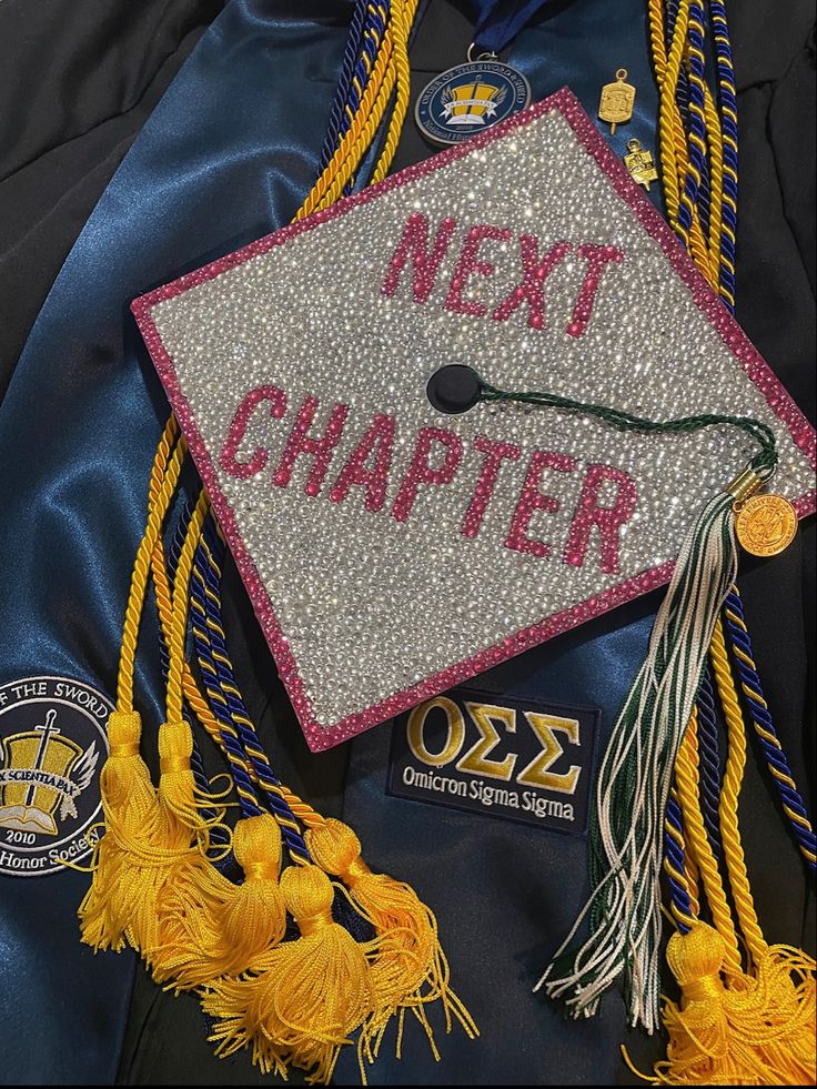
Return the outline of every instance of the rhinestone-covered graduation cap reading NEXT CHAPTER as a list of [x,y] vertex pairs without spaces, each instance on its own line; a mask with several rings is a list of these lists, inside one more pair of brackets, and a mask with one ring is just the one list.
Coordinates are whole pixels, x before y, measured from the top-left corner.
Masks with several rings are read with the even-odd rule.
[[133,311],[316,752],[665,584],[733,417],[814,510],[810,426],[567,90]]

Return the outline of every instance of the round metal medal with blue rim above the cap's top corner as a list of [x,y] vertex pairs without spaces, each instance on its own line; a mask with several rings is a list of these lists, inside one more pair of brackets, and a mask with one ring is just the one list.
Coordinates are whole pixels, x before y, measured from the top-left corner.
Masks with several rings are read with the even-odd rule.
[[462,143],[531,101],[531,84],[502,61],[457,64],[422,91],[414,109],[417,127],[432,143]]

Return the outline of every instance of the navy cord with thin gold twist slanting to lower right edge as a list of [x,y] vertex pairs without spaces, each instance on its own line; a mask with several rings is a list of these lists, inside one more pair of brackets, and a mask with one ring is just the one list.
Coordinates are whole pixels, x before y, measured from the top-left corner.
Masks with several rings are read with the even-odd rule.
[[740,690],[746,700],[752,725],[759,738],[766,764],[783,803],[783,811],[797,839],[797,846],[814,870],[817,865],[817,836],[815,836],[803,796],[797,789],[791,768],[775,730],[768,704],[764,698],[737,586],[732,587],[732,592],[726,598],[724,618],[729,635],[732,654],[740,678]]

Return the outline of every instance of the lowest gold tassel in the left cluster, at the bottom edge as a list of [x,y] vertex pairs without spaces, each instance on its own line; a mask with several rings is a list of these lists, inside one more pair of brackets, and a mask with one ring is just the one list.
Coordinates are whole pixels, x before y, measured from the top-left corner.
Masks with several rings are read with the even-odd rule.
[[307,1082],[325,1083],[373,1009],[365,947],[333,921],[332,885],[316,866],[291,866],[281,888],[301,938],[273,949],[259,975],[218,981],[202,1006],[218,1018],[218,1055],[249,1045],[264,1072],[291,1062]]

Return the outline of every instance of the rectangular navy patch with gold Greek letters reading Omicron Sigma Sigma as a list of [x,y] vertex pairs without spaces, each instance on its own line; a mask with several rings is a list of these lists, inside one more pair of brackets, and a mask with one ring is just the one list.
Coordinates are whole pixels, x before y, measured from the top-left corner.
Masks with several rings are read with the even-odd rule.
[[601,715],[457,688],[395,720],[387,793],[582,835]]

